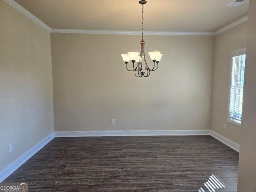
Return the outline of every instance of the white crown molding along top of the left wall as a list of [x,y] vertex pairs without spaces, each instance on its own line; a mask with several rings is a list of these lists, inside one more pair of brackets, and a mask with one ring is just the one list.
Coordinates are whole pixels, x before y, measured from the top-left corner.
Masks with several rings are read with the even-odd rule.
[[44,22],[42,22],[40,19],[38,19],[36,16],[28,12],[26,9],[24,9],[20,4],[16,3],[14,0],[4,0],[6,3],[8,3],[10,6],[30,18],[32,21],[36,22],[38,25],[40,25],[42,28],[47,30],[48,32],[51,31],[51,28],[46,25]]

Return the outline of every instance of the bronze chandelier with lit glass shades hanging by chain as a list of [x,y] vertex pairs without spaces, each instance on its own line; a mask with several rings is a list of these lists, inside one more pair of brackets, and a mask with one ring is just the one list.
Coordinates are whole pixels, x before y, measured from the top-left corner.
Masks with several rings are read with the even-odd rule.
[[[139,1],[140,4],[142,4],[142,41],[140,42],[140,53],[139,52],[128,52],[128,54],[121,54],[124,63],[126,64],[126,69],[128,71],[134,71],[134,74],[136,77],[148,77],[150,75],[150,71],[155,71],[158,68],[158,63],[161,60],[161,57],[163,54],[161,54],[159,51],[153,51],[149,52],[151,60],[154,63],[154,66],[150,68],[146,62],[145,52],[144,52],[144,46],[145,41],[143,40],[143,22],[144,22],[144,16],[143,16],[143,8],[144,4],[147,2],[145,0]],[[128,69],[127,64],[129,61],[132,61],[133,69]],[[144,61],[144,67],[142,66],[142,62]],[[152,64],[153,65],[153,64]],[[143,68],[145,71],[143,71]]]

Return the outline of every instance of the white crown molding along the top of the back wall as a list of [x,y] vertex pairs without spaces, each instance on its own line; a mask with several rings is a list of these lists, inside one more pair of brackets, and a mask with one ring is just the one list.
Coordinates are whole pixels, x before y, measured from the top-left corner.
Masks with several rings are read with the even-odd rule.
[[[107,34],[107,35],[141,35],[141,31],[114,31],[114,30],[83,30],[83,29],[52,29],[51,33],[78,33],[78,34]],[[145,35],[187,36],[206,35],[214,36],[214,32],[173,32],[173,31],[144,31]]]

